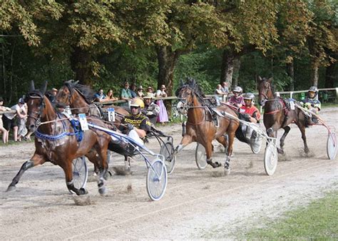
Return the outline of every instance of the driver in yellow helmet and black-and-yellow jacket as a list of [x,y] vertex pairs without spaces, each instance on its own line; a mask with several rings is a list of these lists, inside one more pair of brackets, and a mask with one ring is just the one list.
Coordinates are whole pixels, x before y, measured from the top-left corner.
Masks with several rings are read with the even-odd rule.
[[143,101],[140,98],[133,98],[130,103],[131,114],[123,118],[119,130],[143,145],[143,139],[150,131],[151,124],[149,118],[141,113],[141,108],[144,108]]

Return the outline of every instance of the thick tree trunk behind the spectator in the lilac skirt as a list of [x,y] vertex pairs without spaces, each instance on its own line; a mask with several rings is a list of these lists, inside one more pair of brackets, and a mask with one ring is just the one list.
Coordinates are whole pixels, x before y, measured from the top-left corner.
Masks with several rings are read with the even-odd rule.
[[[158,89],[161,85],[165,85],[168,96],[173,96],[173,77],[180,51],[172,51],[170,46],[157,46],[156,52],[158,56]],[[171,101],[165,101],[165,108],[170,115]]]

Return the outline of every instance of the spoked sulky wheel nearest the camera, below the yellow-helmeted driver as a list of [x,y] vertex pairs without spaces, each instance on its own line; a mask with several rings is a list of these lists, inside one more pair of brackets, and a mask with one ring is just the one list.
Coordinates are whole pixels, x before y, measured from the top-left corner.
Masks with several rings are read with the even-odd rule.
[[165,168],[161,160],[155,160],[152,167],[148,167],[147,192],[151,200],[157,201],[160,200],[165,193],[168,174],[167,168]]

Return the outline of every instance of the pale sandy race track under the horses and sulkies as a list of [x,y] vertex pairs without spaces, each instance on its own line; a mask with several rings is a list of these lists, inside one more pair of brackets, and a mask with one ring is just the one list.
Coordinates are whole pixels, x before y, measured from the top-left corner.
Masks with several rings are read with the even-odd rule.
[[[338,108],[327,108],[321,116],[338,129],[337,113]],[[180,125],[160,129],[173,135],[174,145],[180,142]],[[223,176],[222,168],[198,170],[196,144],[190,144],[178,154],[165,195],[158,202],[148,198],[145,163],[133,160],[133,175],[113,175],[106,183],[106,197],[98,194],[96,182],[88,182],[90,205],[84,206],[75,205],[63,170],[50,163],[28,170],[16,191],[6,193],[21,164],[34,153],[34,143],[1,146],[0,239],[231,239],[237,228],[251,227],[338,190],[338,163],[337,158],[327,158],[326,128],[308,128],[307,140],[311,153],[305,156],[300,132],[292,125],[286,155],[279,155],[272,176],[263,167],[265,145],[255,155],[236,140],[232,173]],[[154,140],[147,145],[159,149]],[[218,149],[213,160],[224,163],[224,153]],[[123,158],[114,155],[111,165],[123,165]],[[93,170],[93,165],[88,166]]]

